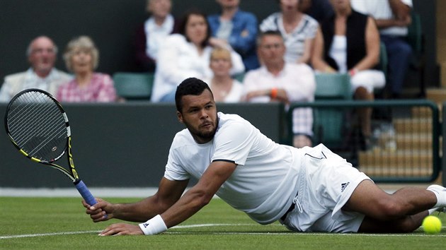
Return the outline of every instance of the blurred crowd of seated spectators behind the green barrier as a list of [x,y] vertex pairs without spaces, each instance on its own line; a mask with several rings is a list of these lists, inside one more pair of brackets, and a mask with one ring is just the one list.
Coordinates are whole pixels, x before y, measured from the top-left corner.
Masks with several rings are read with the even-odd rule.
[[[239,8],[240,0],[215,1],[219,13],[195,6],[176,17],[171,0],[147,0],[149,18],[136,30],[135,61],[154,73],[151,102],[174,102],[176,86],[188,77],[208,83],[217,102],[311,102],[315,73],[349,74],[355,100],[374,100],[385,85],[391,97],[401,96],[411,56],[405,40],[411,0],[271,0],[280,11],[260,21]],[[378,67],[380,44],[389,76]],[[90,37],[66,45],[69,73],[55,69],[57,52],[50,37],[31,41],[30,69],[5,77],[0,102],[27,88],[47,90],[61,102],[122,100],[113,78],[95,71],[99,49]],[[367,138],[371,109],[360,114]],[[311,109],[295,110],[294,145],[311,145],[311,117]]]

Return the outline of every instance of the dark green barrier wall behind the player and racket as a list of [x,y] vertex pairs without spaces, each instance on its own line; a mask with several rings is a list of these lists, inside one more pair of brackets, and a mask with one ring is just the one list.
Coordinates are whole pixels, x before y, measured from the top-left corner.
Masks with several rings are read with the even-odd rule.
[[[65,104],[72,128],[74,164],[88,186],[158,186],[173,136],[183,129],[174,105],[132,102],[110,105]],[[218,105],[219,111],[240,114],[274,141],[280,140],[283,107]],[[6,105],[0,105],[3,118]],[[59,162],[67,166],[66,157]],[[59,171],[18,153],[0,129],[1,187],[71,187]]]

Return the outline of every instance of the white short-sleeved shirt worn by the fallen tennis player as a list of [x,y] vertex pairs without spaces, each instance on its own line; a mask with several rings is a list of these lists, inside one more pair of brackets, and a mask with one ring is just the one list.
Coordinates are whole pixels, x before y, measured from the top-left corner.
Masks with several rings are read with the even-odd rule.
[[215,137],[208,143],[196,143],[188,129],[176,134],[164,177],[200,179],[212,161],[235,162],[236,170],[217,196],[258,223],[278,220],[297,194],[302,150],[273,142],[236,114],[219,112],[218,119]]

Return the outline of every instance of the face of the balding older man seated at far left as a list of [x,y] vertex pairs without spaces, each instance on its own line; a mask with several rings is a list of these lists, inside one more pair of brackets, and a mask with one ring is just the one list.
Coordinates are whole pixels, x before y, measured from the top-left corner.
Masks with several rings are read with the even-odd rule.
[[31,44],[31,52],[28,60],[38,76],[46,76],[55,65],[55,45],[47,37],[36,39],[33,44]]

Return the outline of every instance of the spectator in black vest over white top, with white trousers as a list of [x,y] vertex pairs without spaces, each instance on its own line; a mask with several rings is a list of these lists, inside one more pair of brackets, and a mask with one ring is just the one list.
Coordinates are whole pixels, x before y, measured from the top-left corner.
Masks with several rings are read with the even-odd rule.
[[[370,16],[353,11],[349,0],[331,1],[335,14],[321,23],[311,64],[322,72],[350,73],[356,100],[374,100],[374,89],[386,79],[375,69],[379,62],[379,34]],[[365,138],[370,144],[372,109],[358,112]]]

